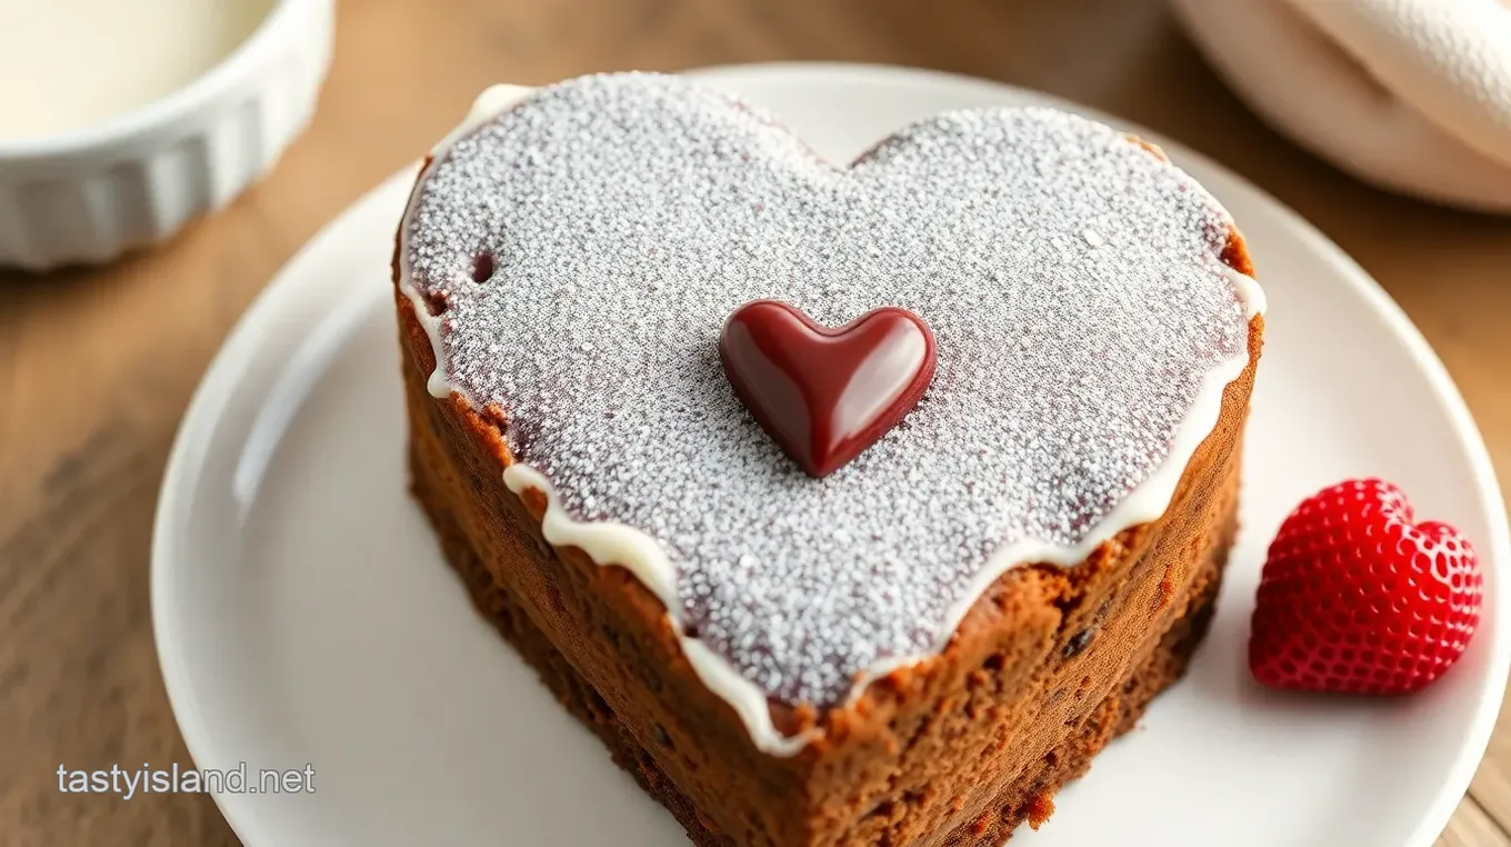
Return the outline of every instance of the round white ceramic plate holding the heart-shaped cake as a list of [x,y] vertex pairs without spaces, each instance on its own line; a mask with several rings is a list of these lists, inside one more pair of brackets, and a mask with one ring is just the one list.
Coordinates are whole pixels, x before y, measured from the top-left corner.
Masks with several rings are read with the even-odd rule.
[[[941,109],[1044,101],[846,65],[707,77],[836,160]],[[1129,129],[1228,206],[1269,293],[1245,528],[1188,679],[1014,844],[1426,847],[1484,752],[1511,655],[1511,560],[1484,445],[1417,331],[1333,244],[1233,174]],[[184,740],[202,768],[314,768],[313,793],[216,796],[251,847],[684,844],[471,611],[406,495],[388,259],[409,178],[357,203],[280,274],[183,424],[153,613]],[[1260,690],[1244,641],[1271,534],[1306,495],[1370,473],[1479,546],[1479,635],[1414,699]]]

